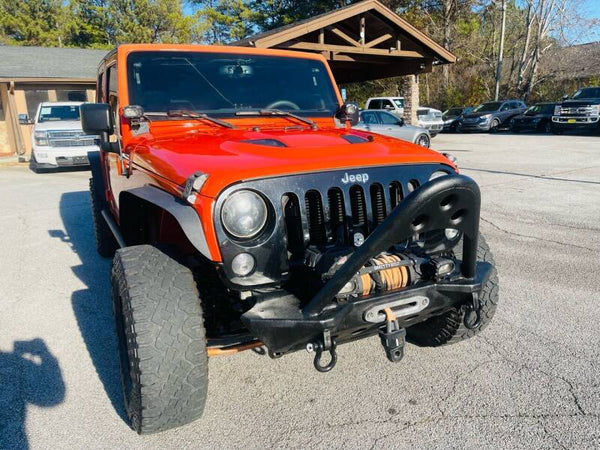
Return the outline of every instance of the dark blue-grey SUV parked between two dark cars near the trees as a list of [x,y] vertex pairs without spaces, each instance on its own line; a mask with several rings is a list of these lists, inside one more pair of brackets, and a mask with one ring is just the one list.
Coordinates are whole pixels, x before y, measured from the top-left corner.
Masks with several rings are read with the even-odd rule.
[[507,127],[513,117],[527,109],[520,100],[487,102],[464,114],[457,124],[457,131],[497,131]]

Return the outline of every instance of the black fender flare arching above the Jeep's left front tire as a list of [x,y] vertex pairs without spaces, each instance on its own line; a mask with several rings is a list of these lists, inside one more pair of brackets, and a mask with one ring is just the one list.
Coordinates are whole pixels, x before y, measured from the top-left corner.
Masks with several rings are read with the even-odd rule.
[[124,221],[127,220],[127,209],[124,208],[124,201],[126,202],[127,196],[137,197],[138,199],[155,205],[171,214],[179,223],[181,230],[196,250],[209,260],[212,259],[200,217],[196,210],[188,203],[155,186],[146,185],[128,189],[120,194],[119,204],[121,205],[121,208],[119,208],[119,214],[121,218],[121,228],[123,227]]

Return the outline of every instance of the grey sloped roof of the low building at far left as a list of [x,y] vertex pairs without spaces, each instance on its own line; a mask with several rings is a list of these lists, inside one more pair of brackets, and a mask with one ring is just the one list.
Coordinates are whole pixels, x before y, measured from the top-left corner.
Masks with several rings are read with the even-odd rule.
[[107,50],[0,46],[0,78],[96,79]]

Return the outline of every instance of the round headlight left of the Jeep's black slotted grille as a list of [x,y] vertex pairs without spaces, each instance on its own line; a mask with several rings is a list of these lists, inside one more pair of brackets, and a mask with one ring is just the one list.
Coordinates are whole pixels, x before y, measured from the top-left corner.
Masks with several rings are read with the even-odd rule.
[[223,226],[231,235],[248,239],[256,236],[267,222],[267,205],[252,191],[233,193],[221,209]]

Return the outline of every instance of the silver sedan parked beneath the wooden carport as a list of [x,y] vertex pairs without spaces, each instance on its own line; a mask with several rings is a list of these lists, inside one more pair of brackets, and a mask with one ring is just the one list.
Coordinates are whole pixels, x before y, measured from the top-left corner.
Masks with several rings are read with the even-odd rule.
[[360,121],[352,128],[403,139],[427,148],[431,143],[427,129],[406,125],[404,119],[398,119],[387,111],[363,110],[360,112]]

